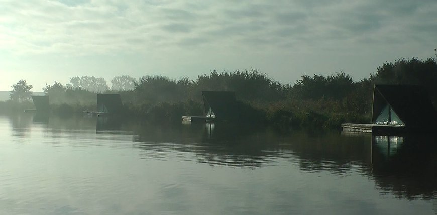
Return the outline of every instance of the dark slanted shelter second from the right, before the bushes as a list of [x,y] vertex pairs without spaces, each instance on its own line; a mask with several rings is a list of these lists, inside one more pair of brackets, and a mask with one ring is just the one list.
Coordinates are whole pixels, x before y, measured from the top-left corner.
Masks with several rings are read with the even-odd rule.
[[224,121],[232,121],[238,117],[234,92],[202,91],[202,97],[207,117]]

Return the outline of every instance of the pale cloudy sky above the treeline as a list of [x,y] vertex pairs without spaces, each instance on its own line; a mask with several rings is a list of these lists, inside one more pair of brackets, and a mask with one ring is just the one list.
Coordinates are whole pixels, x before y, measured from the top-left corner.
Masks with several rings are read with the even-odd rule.
[[435,57],[435,0],[0,0],[0,90],[259,69],[281,83]]

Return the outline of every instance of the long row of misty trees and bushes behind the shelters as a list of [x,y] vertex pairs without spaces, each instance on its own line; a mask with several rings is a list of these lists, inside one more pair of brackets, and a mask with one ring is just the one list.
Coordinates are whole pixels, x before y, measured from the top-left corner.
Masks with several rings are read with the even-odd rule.
[[[20,81],[17,88],[27,89],[22,87],[25,83]],[[109,90],[102,78],[73,77],[70,84],[54,82],[43,90],[50,96],[52,111],[62,115],[95,111],[97,92],[120,93],[124,117],[150,122],[180,122],[182,115],[203,115],[202,90],[235,91],[238,111],[249,123],[286,129],[330,129],[339,128],[344,122],[369,122],[374,84],[422,85],[429,90],[431,99],[437,101],[437,61],[413,58],[386,62],[369,78],[359,81],[340,71],[329,76],[303,75],[295,83],[282,84],[259,70],[249,69],[213,70],[195,80],[186,77],[173,80],[157,75],[144,76],[137,81],[124,75],[115,77],[111,83]],[[12,108],[18,101],[29,105],[26,96],[0,102],[0,110]],[[19,110],[16,106],[13,108]]]

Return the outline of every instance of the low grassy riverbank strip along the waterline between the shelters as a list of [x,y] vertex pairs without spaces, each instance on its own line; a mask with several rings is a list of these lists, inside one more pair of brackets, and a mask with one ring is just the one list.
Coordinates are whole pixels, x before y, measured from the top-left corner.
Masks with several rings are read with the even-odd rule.
[[[51,114],[60,117],[81,116],[83,111],[97,111],[96,104],[51,104]],[[0,113],[20,113],[33,108],[30,101],[0,102]],[[268,106],[237,102],[241,124],[261,124],[281,129],[320,128],[339,129],[344,122],[365,123],[370,116],[341,112],[342,105],[334,101],[285,101]],[[323,111],[320,111],[323,110]],[[202,116],[203,105],[196,101],[159,102],[155,104],[124,104],[118,114],[124,119],[138,119],[150,123],[181,123],[183,115]]]

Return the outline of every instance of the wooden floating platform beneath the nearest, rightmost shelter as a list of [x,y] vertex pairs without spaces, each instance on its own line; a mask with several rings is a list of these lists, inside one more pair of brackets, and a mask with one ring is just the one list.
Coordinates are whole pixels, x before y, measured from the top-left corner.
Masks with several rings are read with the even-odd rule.
[[373,123],[343,123],[343,131],[349,132],[371,132],[371,133],[399,133],[405,132],[405,126],[379,125]]

